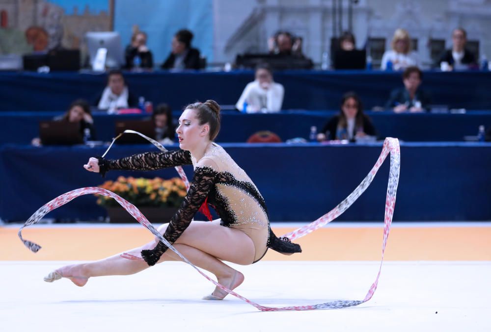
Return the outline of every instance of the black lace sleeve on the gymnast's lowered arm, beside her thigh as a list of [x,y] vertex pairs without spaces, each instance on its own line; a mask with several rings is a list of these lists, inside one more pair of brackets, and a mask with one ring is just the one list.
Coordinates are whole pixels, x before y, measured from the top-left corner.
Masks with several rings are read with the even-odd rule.
[[[211,167],[196,167],[188,195],[184,198],[179,210],[172,217],[167,230],[165,230],[164,238],[167,241],[174,243],[184,230],[188,228],[194,214],[198,211],[201,204],[208,197],[208,193],[215,185],[217,176],[218,172]],[[159,242],[152,250],[142,250],[141,256],[148,265],[152,266],[159,261],[166,250],[167,246]]]

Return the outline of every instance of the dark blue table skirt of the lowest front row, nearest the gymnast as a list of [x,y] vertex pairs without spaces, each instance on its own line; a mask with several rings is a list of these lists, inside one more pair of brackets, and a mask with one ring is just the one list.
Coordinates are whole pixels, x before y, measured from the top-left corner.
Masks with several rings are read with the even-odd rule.
[[[373,167],[381,145],[223,144],[264,196],[273,221],[312,221],[349,195]],[[41,205],[72,189],[96,186],[104,179],[82,165],[106,147],[0,147],[0,218],[25,220]],[[150,146],[115,146],[109,158],[154,151]],[[405,143],[395,221],[491,220],[490,143]],[[192,169],[185,166],[191,178]],[[119,175],[177,175],[112,171]],[[383,220],[388,160],[371,186],[340,220]],[[56,209],[48,217],[92,220],[105,216],[92,195]],[[152,220],[166,222],[167,220]]]

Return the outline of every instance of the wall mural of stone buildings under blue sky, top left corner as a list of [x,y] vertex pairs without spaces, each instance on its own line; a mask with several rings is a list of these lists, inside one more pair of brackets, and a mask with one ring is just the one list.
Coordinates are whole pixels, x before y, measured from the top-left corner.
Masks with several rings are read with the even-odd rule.
[[113,0],[0,0],[0,54],[85,52],[87,31],[112,30]]

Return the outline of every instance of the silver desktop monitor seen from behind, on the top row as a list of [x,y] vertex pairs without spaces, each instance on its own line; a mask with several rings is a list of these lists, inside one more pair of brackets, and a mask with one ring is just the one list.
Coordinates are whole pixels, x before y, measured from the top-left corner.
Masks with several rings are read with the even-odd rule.
[[124,53],[119,32],[87,32],[85,34],[85,39],[87,41],[90,66],[92,66],[94,63],[97,50],[101,48],[108,50],[106,56],[106,67],[119,68],[124,65]]

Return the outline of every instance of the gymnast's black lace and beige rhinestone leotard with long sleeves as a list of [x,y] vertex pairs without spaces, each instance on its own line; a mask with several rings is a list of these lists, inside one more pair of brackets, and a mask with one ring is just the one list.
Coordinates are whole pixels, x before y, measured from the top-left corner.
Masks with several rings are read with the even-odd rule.
[[[188,194],[164,232],[164,238],[174,243],[190,225],[194,214],[208,199],[217,211],[220,225],[244,231],[254,243],[253,262],[261,259],[268,248],[282,253],[301,252],[298,244],[277,238],[270,228],[264,199],[257,187],[235,161],[218,144],[212,143],[203,159],[214,161],[218,169],[196,167],[197,161],[189,151],[149,152],[118,160],[99,158],[100,172],[109,170],[157,170],[181,165],[194,166],[194,176]],[[142,251],[149,265],[154,265],[167,247],[162,243],[153,250]]]

